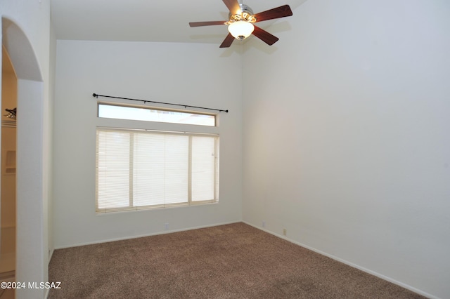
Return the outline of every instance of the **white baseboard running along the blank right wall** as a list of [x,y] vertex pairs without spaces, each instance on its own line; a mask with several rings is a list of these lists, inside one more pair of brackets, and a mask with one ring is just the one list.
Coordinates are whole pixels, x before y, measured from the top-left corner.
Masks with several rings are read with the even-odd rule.
[[288,237],[283,236],[283,235],[281,235],[281,234],[276,234],[276,233],[274,233],[274,232],[271,232],[270,230],[266,230],[264,227],[258,227],[258,226],[256,226],[256,225],[252,225],[252,223],[246,222],[246,221],[244,221],[244,220],[243,220],[242,222],[244,222],[245,224],[248,224],[248,225],[250,225],[250,226],[252,226],[252,227],[255,227],[255,228],[258,229],[258,230],[262,230],[263,232],[267,232],[267,233],[269,233],[269,234],[273,234],[275,237],[284,239],[284,240],[286,240],[286,241],[290,241],[290,243],[296,244],[296,245],[298,245],[298,246],[302,246],[302,247],[304,247],[304,248],[309,249],[310,251],[314,251],[314,252],[319,253],[319,254],[321,254],[321,255],[325,255],[326,257],[332,258],[333,260],[337,260],[337,261],[340,262],[340,263],[343,263],[343,264],[345,264],[345,265],[349,265],[350,267],[354,267],[354,268],[356,268],[356,269],[358,269],[358,270],[361,270],[361,271],[363,271],[363,272],[366,272],[366,273],[368,273],[368,274],[372,274],[373,276],[379,277],[380,279],[383,279],[383,280],[385,280],[385,281],[389,281],[389,282],[392,283],[392,284],[397,284],[397,286],[401,286],[402,288],[406,288],[406,289],[408,289],[409,291],[413,291],[414,293],[418,293],[419,295],[423,295],[423,296],[425,296],[425,297],[427,297],[427,298],[430,298],[430,299],[439,299],[439,297],[436,297],[436,296],[434,296],[434,295],[430,295],[429,293],[426,293],[426,292],[424,292],[424,291],[420,291],[419,289],[414,288],[413,286],[409,286],[408,284],[404,284],[404,283],[402,283],[401,281],[397,281],[397,280],[395,280],[395,279],[392,279],[392,278],[390,278],[390,277],[387,277],[387,276],[385,276],[385,275],[383,275],[383,274],[380,274],[380,273],[378,273],[378,272],[375,272],[375,271],[366,269],[365,267],[361,267],[361,266],[356,265],[356,264],[354,264],[354,263],[351,263],[351,262],[349,262],[349,261],[347,261],[347,260],[343,260],[342,258],[338,258],[338,257],[335,256],[335,255],[328,254],[328,253],[326,253],[326,252],[320,251],[320,250],[318,250],[318,249],[316,249],[316,248],[313,248],[313,247],[311,247],[311,246],[307,246],[307,245],[302,244],[302,243],[300,243],[300,242],[298,242],[298,241],[295,241],[295,240],[293,240],[293,239],[289,239]]

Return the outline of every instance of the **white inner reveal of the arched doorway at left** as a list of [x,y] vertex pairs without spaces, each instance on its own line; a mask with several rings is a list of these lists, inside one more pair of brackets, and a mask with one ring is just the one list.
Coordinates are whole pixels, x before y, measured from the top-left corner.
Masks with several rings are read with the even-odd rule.
[[[2,44],[17,75],[16,281],[47,281],[44,201],[44,84],[34,50],[20,27],[1,18]],[[16,298],[44,298],[45,290],[20,289]]]

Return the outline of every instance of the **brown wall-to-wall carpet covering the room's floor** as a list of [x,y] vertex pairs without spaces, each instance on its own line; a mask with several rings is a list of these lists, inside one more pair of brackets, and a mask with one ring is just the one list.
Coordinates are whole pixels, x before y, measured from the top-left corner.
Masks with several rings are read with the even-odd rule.
[[423,298],[242,222],[56,250],[49,298]]

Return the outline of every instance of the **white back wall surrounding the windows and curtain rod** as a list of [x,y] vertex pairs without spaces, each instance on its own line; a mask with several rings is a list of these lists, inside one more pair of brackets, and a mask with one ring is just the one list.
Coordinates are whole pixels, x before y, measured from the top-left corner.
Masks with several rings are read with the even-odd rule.
[[[240,53],[217,45],[58,40],[55,247],[241,220],[242,86],[236,69]],[[219,114],[219,204],[96,215],[96,126],[108,120],[97,119],[93,93],[229,109]]]

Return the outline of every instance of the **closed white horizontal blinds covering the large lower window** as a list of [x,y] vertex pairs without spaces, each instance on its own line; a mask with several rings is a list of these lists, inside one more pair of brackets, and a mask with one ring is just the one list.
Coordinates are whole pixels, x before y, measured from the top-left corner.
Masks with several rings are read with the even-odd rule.
[[98,128],[97,213],[218,201],[218,139]]

